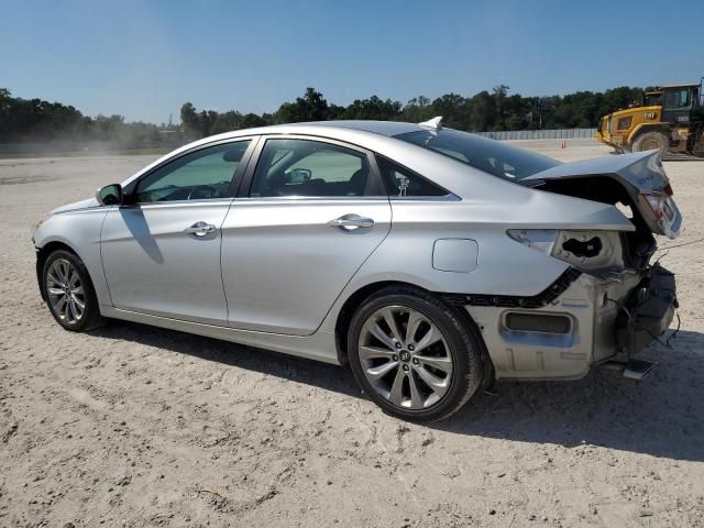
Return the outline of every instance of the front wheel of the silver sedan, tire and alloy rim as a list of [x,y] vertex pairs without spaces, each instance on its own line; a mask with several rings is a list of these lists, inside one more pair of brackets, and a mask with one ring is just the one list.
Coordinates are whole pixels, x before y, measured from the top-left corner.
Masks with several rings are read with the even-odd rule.
[[88,270],[74,253],[57,250],[48,255],[42,270],[42,288],[48,310],[65,330],[85,332],[102,323]]

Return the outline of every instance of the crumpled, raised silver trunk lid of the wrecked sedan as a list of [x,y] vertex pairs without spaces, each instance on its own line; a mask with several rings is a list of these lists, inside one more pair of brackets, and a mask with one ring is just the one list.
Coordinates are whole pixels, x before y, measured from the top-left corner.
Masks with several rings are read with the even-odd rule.
[[[676,238],[682,215],[672,198],[659,151],[565,163],[519,182],[522,185],[607,204],[630,206],[651,232]],[[635,219],[637,220],[637,219]]]

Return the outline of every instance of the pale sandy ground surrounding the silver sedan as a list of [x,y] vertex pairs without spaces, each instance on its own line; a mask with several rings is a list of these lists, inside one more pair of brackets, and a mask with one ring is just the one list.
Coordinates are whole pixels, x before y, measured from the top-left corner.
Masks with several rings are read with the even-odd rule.
[[[524,142],[562,160],[592,142]],[[498,384],[451,420],[385,416],[348,371],[145,326],[63,331],[30,241],[151,156],[0,161],[0,526],[704,526],[704,244],[641,383]],[[667,164],[704,237],[704,163]],[[663,241],[664,243],[670,243]]]

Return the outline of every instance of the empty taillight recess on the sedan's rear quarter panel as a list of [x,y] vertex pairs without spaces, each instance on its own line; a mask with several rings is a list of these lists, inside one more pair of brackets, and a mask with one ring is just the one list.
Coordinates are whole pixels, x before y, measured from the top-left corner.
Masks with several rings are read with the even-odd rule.
[[623,268],[617,231],[509,229],[508,237],[583,272]]

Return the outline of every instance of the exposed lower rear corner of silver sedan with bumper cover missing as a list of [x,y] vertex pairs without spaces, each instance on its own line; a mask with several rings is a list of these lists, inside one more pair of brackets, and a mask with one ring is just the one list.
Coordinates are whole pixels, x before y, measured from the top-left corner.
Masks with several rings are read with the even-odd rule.
[[[465,297],[463,306],[480,327],[497,378],[583,377],[594,363],[650,344],[678,306],[674,277],[658,265],[645,274],[581,274],[560,289],[538,307],[477,306]],[[630,323],[624,323],[627,314]]]

